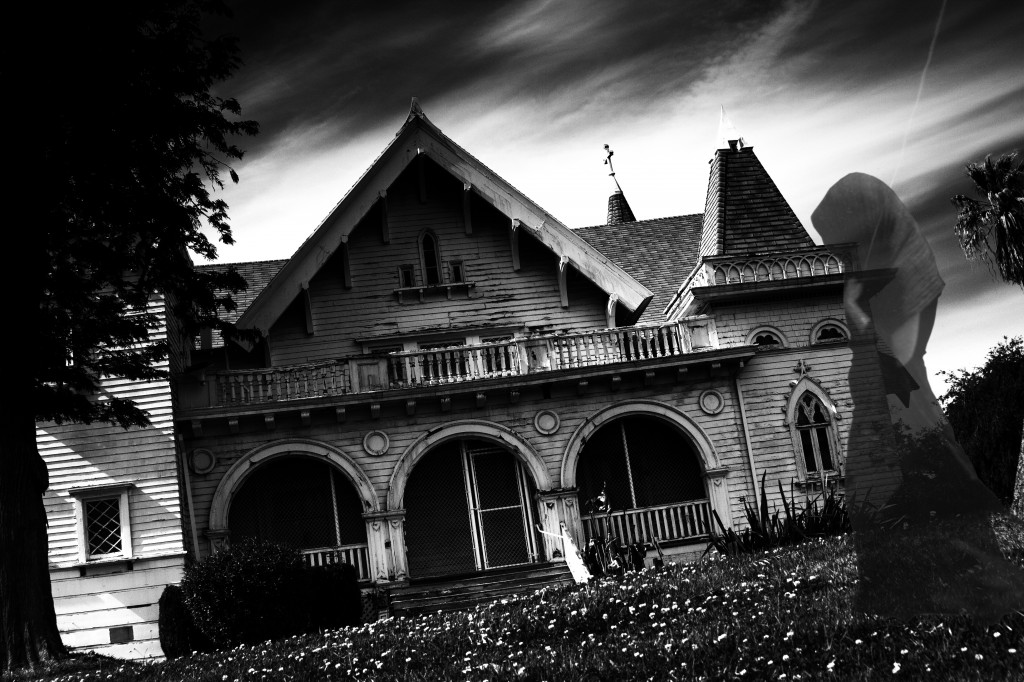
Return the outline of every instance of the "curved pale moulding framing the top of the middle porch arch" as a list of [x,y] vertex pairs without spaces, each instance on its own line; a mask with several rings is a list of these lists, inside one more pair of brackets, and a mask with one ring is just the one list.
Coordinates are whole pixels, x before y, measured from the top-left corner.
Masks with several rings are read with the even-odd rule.
[[401,509],[409,476],[424,455],[435,445],[453,438],[476,438],[490,440],[509,449],[534,477],[538,492],[550,491],[551,476],[544,461],[534,446],[510,428],[482,419],[465,419],[450,422],[444,426],[427,431],[406,449],[391,474],[387,491],[387,508]]

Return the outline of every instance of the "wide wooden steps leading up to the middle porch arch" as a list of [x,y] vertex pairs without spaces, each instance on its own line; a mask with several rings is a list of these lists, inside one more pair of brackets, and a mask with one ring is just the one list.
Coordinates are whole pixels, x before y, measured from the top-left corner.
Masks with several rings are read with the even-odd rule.
[[480,602],[570,583],[572,574],[564,563],[532,564],[396,588],[390,592],[390,610],[393,615],[457,611]]

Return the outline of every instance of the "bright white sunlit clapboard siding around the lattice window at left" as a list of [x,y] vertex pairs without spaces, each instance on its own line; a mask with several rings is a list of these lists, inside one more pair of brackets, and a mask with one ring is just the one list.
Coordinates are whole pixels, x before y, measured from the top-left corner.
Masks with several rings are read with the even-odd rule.
[[[163,311],[163,302],[151,309]],[[163,338],[163,332],[155,340]],[[173,341],[173,340],[172,340]],[[161,366],[168,369],[168,363]],[[161,655],[160,592],[181,579],[184,564],[172,391],[167,380],[104,379],[99,395],[130,398],[152,424],[128,430],[109,424],[36,425],[50,487],[44,496],[50,579],[65,643],[128,657]],[[98,398],[97,398],[98,399]],[[76,501],[70,489],[126,483],[132,560],[80,563]],[[110,629],[131,626],[134,640],[111,644]]]

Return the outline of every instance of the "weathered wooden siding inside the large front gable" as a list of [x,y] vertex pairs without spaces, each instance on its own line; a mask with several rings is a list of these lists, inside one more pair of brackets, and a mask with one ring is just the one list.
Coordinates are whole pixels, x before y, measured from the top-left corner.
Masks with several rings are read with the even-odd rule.
[[[427,202],[420,203],[413,164],[388,189],[390,243],[383,243],[381,216],[372,211],[349,237],[351,289],[344,286],[343,264],[335,255],[309,283],[314,334],[306,333],[297,296],[270,330],[272,365],[358,354],[362,346],[356,339],[408,336],[415,341],[445,332],[465,337],[471,329],[523,331],[527,325],[546,330],[605,326],[607,296],[571,267],[569,307],[561,306],[558,256],[529,237],[528,228],[519,228],[518,271],[512,267],[510,219],[475,197],[473,231],[466,235],[462,184],[432,162],[425,165]],[[424,282],[419,239],[425,229],[437,238],[444,282],[450,282],[451,263],[462,261],[466,281],[475,286],[468,294],[455,289],[451,300],[434,291],[423,302],[407,293],[399,303],[394,293],[399,265],[413,265],[417,286]]]

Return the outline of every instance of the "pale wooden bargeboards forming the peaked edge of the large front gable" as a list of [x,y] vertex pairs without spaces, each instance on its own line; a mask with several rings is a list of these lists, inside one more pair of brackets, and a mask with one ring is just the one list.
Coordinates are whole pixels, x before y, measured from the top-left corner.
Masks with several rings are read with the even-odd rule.
[[650,302],[649,290],[452,141],[427,119],[414,99],[409,118],[394,139],[242,313],[239,326],[269,330],[303,284],[308,284],[331,254],[347,241],[381,194],[421,154],[462,180],[511,221],[518,220],[541,244],[555,255],[566,257],[569,264],[597,287],[616,294],[618,303],[636,316]]

